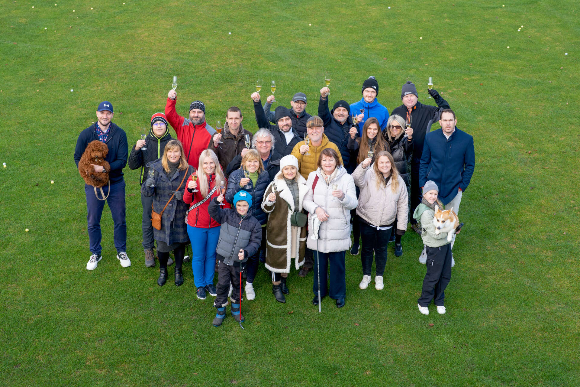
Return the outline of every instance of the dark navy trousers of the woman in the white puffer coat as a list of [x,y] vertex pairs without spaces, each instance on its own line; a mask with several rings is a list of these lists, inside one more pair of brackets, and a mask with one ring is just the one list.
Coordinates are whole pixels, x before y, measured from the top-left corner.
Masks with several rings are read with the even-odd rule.
[[[346,297],[346,269],[345,253],[346,251],[336,252],[316,252],[314,255],[314,285],[312,290],[314,295],[318,295],[318,268],[316,255],[318,254],[318,263],[320,264],[320,296],[327,294],[332,299],[341,299]],[[330,289],[328,288],[328,265],[330,265]]]

